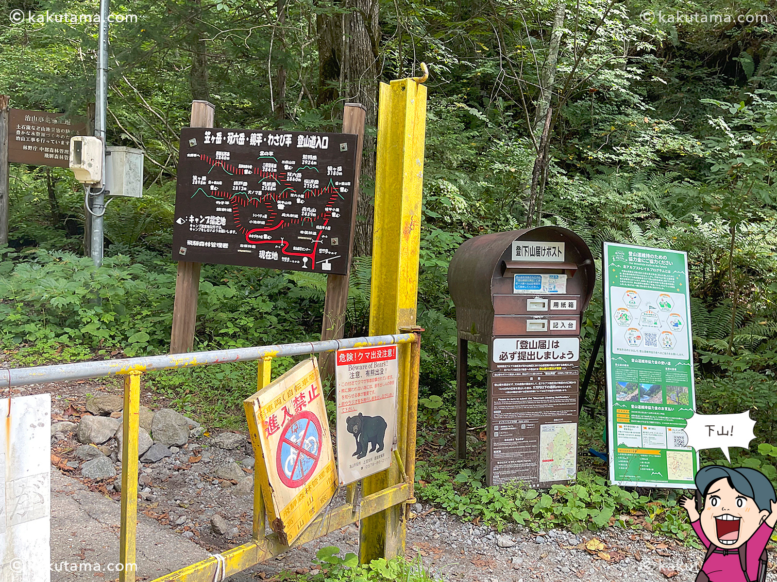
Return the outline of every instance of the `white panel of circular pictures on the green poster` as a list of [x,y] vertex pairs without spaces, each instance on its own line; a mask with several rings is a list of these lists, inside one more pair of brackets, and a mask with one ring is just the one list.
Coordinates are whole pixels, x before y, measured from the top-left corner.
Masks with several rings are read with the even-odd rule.
[[682,293],[613,286],[612,351],[618,354],[688,358],[686,307]]

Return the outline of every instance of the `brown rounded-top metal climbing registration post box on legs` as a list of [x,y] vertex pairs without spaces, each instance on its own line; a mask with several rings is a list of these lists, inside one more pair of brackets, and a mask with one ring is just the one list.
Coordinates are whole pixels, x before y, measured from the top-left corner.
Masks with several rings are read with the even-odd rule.
[[537,227],[473,237],[456,251],[456,446],[466,454],[467,345],[489,346],[488,483],[534,487],[577,474],[580,317],[594,258],[571,230]]

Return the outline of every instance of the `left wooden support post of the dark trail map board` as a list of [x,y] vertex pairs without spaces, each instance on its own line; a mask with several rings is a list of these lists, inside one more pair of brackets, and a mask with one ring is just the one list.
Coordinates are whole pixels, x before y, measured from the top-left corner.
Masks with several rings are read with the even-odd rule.
[[[207,101],[193,101],[191,127],[213,127],[216,106]],[[176,275],[176,300],[172,307],[170,353],[190,352],[197,324],[197,296],[200,293],[200,263],[179,261]]]

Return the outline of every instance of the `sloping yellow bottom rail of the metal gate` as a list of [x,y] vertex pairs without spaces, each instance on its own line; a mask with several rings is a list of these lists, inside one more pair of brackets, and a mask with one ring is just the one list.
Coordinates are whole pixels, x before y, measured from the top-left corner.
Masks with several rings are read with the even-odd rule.
[[[301,546],[322,535],[327,535],[358,521],[365,516],[385,511],[392,506],[399,506],[410,498],[410,488],[407,483],[399,483],[394,487],[378,491],[361,499],[360,511],[354,513],[354,507],[349,504],[340,505],[331,511],[325,511],[302,532],[294,542],[294,546]],[[277,541],[277,536],[268,535],[263,540],[256,540],[228,549],[221,553],[225,559],[225,575],[227,577],[242,572],[251,566],[256,566],[267,559],[287,552],[288,546]],[[216,573],[218,560],[214,557],[204,559],[202,562],[186,566],[177,572],[169,573],[153,580],[153,582],[212,582]]]

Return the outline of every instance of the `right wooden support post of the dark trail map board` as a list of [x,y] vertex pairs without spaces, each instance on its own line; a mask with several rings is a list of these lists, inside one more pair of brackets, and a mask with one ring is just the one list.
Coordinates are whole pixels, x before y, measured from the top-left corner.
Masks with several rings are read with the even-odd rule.
[[[359,199],[359,175],[361,174],[361,152],[364,147],[364,119],[367,110],[361,103],[346,103],[343,109],[343,133],[356,133],[359,136],[356,146],[356,171],[353,185],[350,231],[356,226],[356,205]],[[348,281],[350,279],[350,261],[354,252],[354,237],[350,237],[348,247],[347,275],[326,275],[326,297],[324,299],[324,318],[321,324],[321,341],[343,338],[345,313],[348,304]],[[324,352],[319,356],[322,380],[334,376],[335,352]]]

